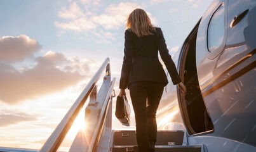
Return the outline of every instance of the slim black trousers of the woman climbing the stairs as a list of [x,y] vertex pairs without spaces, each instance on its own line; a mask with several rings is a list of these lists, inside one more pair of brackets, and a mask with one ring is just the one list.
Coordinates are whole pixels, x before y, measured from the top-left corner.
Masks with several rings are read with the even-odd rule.
[[159,82],[134,82],[130,96],[135,113],[136,136],[140,152],[149,151],[149,141],[156,141],[156,111],[163,94],[164,84]]

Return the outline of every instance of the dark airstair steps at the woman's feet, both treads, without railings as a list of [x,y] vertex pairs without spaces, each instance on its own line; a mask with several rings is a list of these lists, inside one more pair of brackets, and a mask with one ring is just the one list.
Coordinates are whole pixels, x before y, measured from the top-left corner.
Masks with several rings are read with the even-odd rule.
[[[159,130],[156,152],[203,152],[203,146],[187,146],[182,130]],[[114,130],[111,152],[138,152],[135,130]]]

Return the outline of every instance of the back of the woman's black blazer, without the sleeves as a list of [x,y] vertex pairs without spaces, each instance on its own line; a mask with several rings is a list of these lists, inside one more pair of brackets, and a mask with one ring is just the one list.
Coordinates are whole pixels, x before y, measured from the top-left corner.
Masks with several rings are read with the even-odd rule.
[[155,31],[152,33],[153,35],[138,37],[129,29],[125,32],[126,56],[130,55],[132,64],[129,84],[138,81],[168,83],[158,59],[158,36]]

